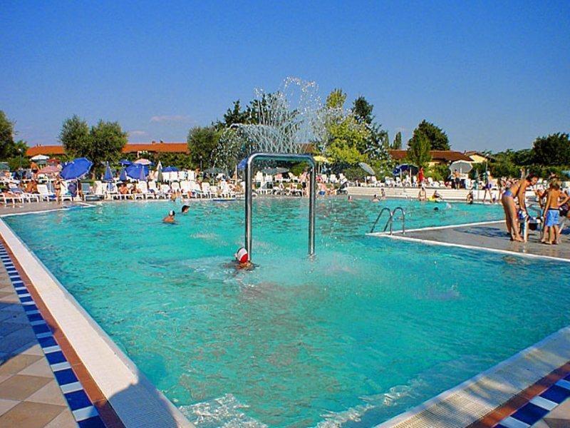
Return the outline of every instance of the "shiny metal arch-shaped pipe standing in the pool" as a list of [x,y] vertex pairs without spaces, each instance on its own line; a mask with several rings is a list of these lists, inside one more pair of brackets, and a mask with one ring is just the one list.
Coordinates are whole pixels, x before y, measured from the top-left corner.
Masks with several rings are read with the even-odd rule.
[[316,164],[311,155],[295,153],[252,153],[245,164],[245,249],[248,260],[252,260],[252,192],[254,161],[306,162],[311,166],[309,191],[309,255],[315,253],[315,199],[316,199]]

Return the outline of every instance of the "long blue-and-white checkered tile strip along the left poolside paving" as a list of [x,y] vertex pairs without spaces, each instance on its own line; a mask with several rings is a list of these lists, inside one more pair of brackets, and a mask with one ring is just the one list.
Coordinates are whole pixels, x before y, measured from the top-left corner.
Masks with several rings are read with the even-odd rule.
[[43,350],[48,364],[53,371],[56,382],[58,382],[63,397],[66,398],[73,417],[76,419],[78,427],[81,428],[105,428],[103,420],[100,418],[97,409],[93,406],[93,402],[87,396],[81,382],[71,370],[66,356],[61,352],[53,332],[50,330],[46,320],[43,319],[38,311],[36,303],[33,301],[31,294],[21,279],[18,270],[14,266],[6,248],[0,243],[0,260],[4,268],[8,272],[11,283],[14,286],[16,295],[18,296],[28,321],[33,329],[36,339]]

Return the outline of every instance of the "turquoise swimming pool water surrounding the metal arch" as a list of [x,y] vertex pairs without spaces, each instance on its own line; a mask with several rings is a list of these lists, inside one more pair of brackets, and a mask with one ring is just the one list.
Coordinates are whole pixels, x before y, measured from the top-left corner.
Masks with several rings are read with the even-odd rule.
[[252,272],[236,272],[243,203],[170,202],[5,218],[198,427],[370,427],[568,325],[567,267],[364,234],[380,206],[409,228],[501,218],[498,206],[254,202]]

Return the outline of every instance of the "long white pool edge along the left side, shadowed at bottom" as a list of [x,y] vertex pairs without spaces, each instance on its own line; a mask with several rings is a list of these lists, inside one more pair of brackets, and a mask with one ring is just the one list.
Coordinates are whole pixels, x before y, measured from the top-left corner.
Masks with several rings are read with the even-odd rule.
[[126,427],[193,427],[1,219],[0,236]]

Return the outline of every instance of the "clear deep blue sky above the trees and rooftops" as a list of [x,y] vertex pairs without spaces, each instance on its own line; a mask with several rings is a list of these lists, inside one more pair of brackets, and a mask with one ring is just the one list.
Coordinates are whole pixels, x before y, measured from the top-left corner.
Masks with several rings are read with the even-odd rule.
[[185,141],[286,76],[366,96],[404,141],[457,150],[570,131],[570,1],[2,1],[0,109],[30,145],[74,113]]

